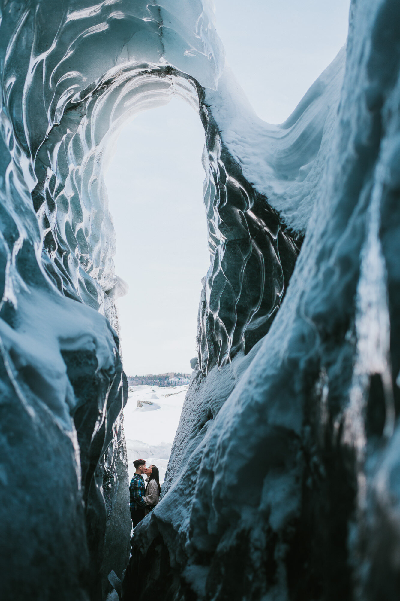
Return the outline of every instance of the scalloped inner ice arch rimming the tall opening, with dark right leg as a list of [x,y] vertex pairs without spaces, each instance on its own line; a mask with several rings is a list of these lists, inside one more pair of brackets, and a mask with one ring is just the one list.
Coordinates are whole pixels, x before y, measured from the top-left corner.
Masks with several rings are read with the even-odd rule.
[[[248,352],[267,332],[298,246],[297,237],[286,232],[222,144],[198,82],[172,67],[151,64],[124,67],[97,82],[94,91],[67,108],[38,149],[32,198],[44,220],[44,249],[52,259],[46,261],[47,272],[59,290],[71,296],[78,290],[80,299],[98,310],[103,292],[115,297],[121,285],[114,276],[114,231],[102,177],[108,149],[127,118],[168,102],[172,94],[192,104],[206,132],[204,202],[212,264],[198,332],[199,365],[205,374],[238,350]],[[66,269],[60,261],[63,252],[70,260]]]

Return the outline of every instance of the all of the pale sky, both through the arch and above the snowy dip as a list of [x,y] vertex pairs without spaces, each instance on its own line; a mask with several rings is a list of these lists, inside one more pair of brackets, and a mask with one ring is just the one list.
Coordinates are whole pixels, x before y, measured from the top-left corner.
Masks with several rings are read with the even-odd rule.
[[[282,123],[345,43],[350,0],[214,0],[226,59],[255,111]],[[106,172],[117,238],[117,301],[128,375],[190,373],[201,278],[204,130],[183,100],[127,123]]]

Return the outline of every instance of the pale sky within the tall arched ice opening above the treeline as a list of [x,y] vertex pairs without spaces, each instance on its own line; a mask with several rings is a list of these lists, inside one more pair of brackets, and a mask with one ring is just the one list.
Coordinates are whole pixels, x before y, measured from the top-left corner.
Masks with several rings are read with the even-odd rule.
[[126,123],[105,174],[116,237],[124,371],[187,373],[210,266],[202,200],[204,129],[182,99]]

